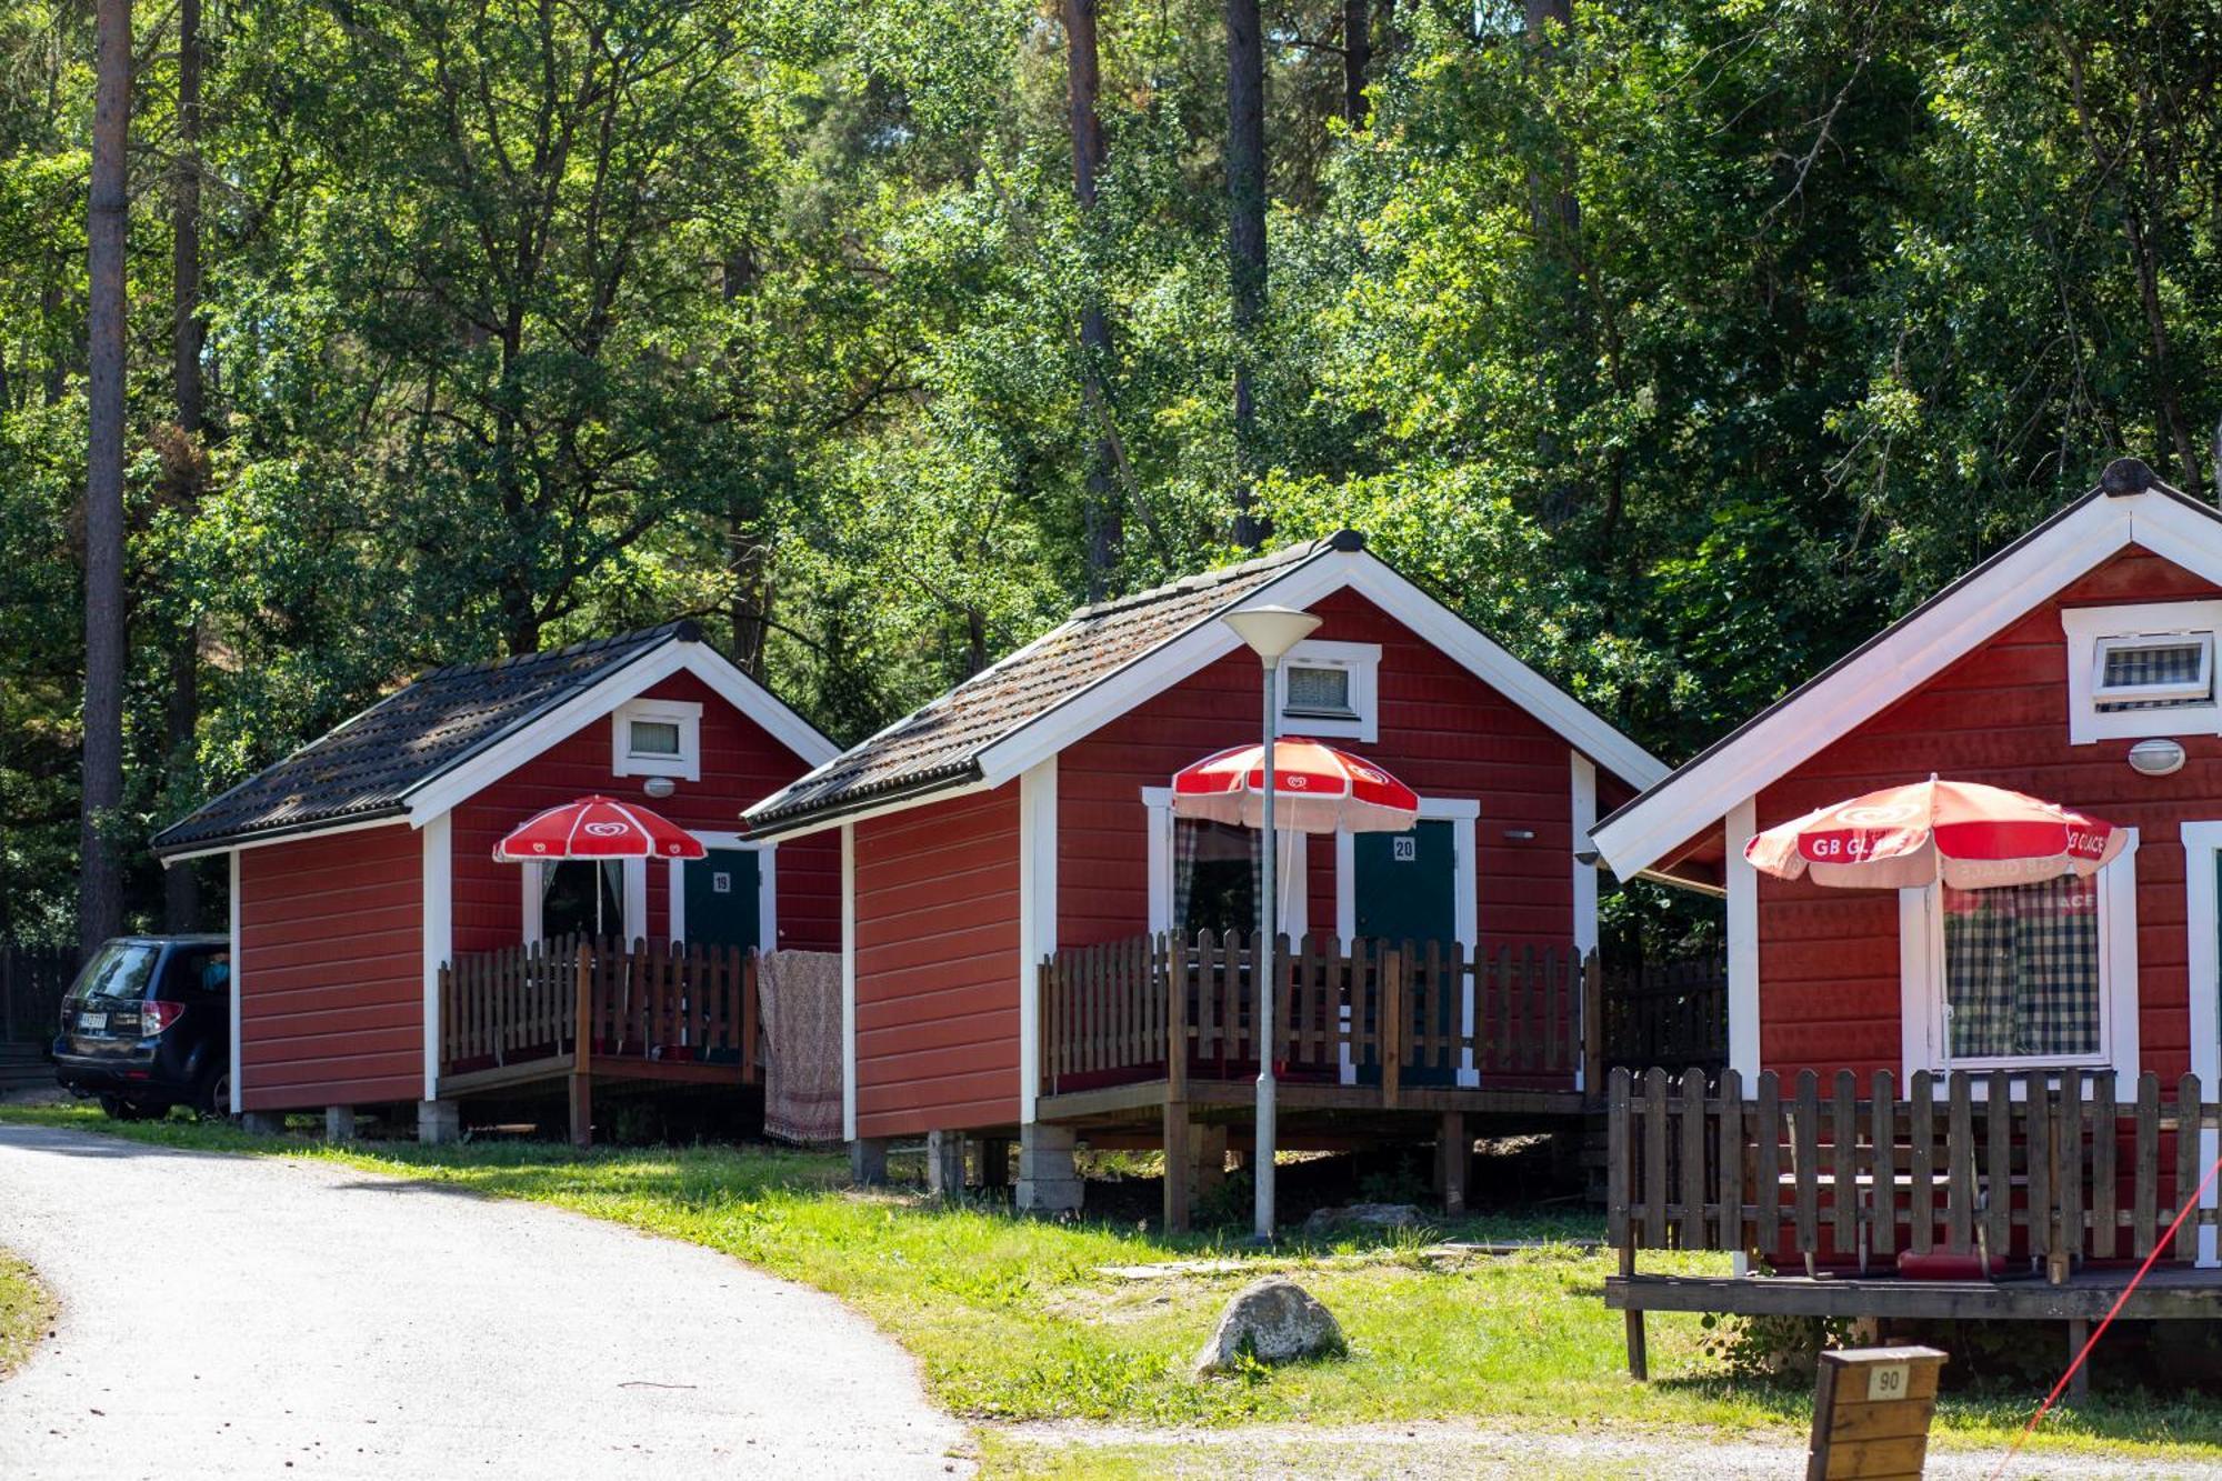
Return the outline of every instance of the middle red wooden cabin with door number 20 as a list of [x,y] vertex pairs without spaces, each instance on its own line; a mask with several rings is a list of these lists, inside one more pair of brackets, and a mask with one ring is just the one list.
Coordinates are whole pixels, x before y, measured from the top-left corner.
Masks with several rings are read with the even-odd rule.
[[[1260,727],[1258,660],[1218,620],[1244,603],[1324,618],[1282,669],[1284,734],[1355,749],[1424,798],[1413,834],[1284,838],[1291,936],[1433,941],[1453,961],[1595,945],[1584,829],[1664,767],[1344,531],[1080,609],[749,809],[755,838],[840,836],[844,1116],[862,1154],[1018,1134],[1020,1201],[1042,1205],[1075,1192],[1044,1194],[1069,1183],[1075,1123],[1109,1139],[1120,1112],[1155,1105],[1162,1085],[1098,1099],[1089,1123],[1044,1081],[1060,1045],[1044,1043],[1042,963],[1253,930],[1258,834],[1175,821],[1167,801],[1178,767]],[[1469,1036],[1429,1094],[1482,1094],[1471,1056]],[[1527,1087],[1573,1099],[1578,1067],[1551,1065]],[[1322,1090],[1362,1090],[1338,1079]]]

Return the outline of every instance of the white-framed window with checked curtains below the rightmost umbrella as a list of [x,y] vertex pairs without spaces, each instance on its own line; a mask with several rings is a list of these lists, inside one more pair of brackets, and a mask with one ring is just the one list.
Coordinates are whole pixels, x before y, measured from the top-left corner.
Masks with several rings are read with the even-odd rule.
[[1902,892],[1906,1074],[2138,1072],[2135,836],[2091,878]]

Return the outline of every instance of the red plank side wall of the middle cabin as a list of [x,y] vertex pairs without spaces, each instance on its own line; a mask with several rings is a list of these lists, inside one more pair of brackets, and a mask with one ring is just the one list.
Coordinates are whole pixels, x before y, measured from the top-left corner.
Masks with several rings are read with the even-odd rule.
[[855,1132],[1018,1121],[1018,783],[855,825]]

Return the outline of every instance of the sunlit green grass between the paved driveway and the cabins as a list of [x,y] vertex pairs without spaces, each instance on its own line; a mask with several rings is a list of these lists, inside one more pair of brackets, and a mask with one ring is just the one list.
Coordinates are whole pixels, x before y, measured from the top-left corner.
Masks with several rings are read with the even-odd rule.
[[[1044,1223],[844,1187],[831,1156],[760,1147],[598,1150],[547,1143],[358,1143],[258,1139],[184,1121],[118,1125],[76,1107],[9,1107],[9,1121],[102,1130],[176,1147],[336,1159],[356,1167],[553,1203],[724,1250],[827,1290],[909,1348],[933,1396],[975,1421],[1178,1425],[1364,1425],[1480,1421],[1493,1428],[1611,1425],[1613,1432],[1749,1432],[1782,1443],[1811,1414],[1804,1385],[1738,1383],[1702,1352],[1695,1316],[1651,1316],[1653,1383],[1622,1370],[1622,1325],[1600,1296],[1611,1256],[1567,1243],[1438,1265],[1415,1239],[1260,1256],[1211,1236],[1131,1225]],[[1467,1239],[1595,1236],[1587,1216],[1478,1219]],[[1322,1259],[1327,1254],[1362,1259]],[[1102,1265],[1227,1256],[1227,1274],[1120,1281]],[[1342,1321],[1351,1361],[1193,1383],[1187,1359],[1227,1294],[1269,1268],[1300,1279]],[[1660,1270],[1675,1256],[1660,1256]],[[1715,1270],[1718,1256],[1682,1268]],[[2000,1445],[2029,1394],[1949,1396],[1951,1445]],[[2106,1396],[2046,1423],[2055,1454],[2164,1457],[2222,1443],[2222,1405]],[[1002,1454],[1024,1454],[1024,1445]],[[1104,1457],[1111,1459],[1109,1454]],[[1027,1465],[1011,1463],[1013,1470]]]

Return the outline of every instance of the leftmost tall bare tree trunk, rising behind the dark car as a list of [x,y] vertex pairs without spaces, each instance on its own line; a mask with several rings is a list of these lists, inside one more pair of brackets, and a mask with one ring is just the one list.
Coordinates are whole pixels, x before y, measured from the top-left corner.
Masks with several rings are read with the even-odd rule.
[[[202,385],[200,385],[200,0],[178,0],[178,165],[171,185],[171,380],[178,396],[180,460],[191,485],[180,498],[200,503]],[[187,796],[198,774],[200,736],[200,616],[187,612],[169,652],[169,696],[162,705],[164,756],[171,796]],[[200,869],[191,863],[162,869],[162,923],[173,932],[200,927]]]

